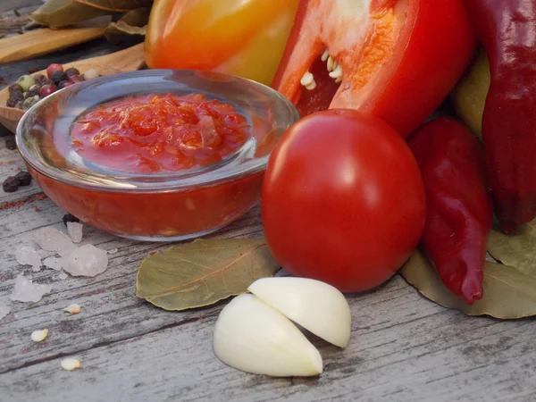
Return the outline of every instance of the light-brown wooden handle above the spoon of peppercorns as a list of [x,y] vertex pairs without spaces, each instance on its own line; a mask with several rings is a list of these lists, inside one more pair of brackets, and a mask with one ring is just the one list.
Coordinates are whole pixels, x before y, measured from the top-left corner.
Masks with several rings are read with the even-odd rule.
[[105,28],[35,29],[0,39],[0,64],[18,62],[102,37]]

